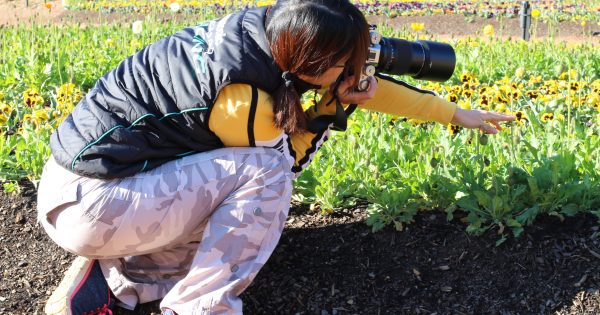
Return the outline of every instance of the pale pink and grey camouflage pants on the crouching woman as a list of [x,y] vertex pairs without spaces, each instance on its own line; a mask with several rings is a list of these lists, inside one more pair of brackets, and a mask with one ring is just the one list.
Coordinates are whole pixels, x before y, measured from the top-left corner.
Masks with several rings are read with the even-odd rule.
[[61,247],[98,259],[125,307],[162,298],[179,314],[239,314],[238,295],[279,241],[290,170],[265,148],[218,149],[114,180],[51,158],[38,220]]

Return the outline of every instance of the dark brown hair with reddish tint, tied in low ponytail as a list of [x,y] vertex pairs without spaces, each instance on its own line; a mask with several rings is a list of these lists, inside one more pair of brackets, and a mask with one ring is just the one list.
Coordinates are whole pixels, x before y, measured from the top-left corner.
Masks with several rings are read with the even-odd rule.
[[[365,17],[348,0],[279,0],[269,10],[266,34],[275,63],[294,76],[322,75],[345,57],[345,74],[358,74],[370,42]],[[275,125],[290,134],[306,131],[295,87],[282,79],[272,96]]]

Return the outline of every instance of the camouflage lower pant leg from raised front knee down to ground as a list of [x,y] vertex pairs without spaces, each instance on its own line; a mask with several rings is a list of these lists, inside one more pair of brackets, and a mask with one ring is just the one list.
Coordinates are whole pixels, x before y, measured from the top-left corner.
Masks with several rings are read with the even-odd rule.
[[241,314],[238,297],[272,254],[292,193],[289,168],[250,156],[255,174],[231,193],[208,220],[190,272],[164,297],[161,308],[178,314]]

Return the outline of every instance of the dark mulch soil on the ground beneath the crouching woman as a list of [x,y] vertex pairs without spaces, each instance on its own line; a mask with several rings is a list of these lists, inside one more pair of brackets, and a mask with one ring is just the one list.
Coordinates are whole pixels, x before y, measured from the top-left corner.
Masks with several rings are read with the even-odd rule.
[[[0,313],[40,313],[72,255],[35,222],[35,190],[0,192]],[[247,314],[600,314],[600,229],[540,218],[517,240],[464,232],[440,212],[372,233],[365,205],[322,216],[293,207],[281,241],[242,295]],[[158,303],[135,312],[158,313]]]

